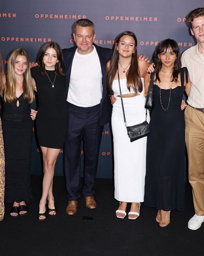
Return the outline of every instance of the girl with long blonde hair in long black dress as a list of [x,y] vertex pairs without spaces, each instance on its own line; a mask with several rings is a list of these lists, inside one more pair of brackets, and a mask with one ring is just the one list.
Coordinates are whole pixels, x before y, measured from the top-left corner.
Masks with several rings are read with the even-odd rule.
[[37,111],[30,109],[35,99],[28,53],[15,49],[8,58],[3,94],[2,128],[5,149],[5,200],[13,203],[10,215],[25,215],[31,195],[30,167],[32,120]]

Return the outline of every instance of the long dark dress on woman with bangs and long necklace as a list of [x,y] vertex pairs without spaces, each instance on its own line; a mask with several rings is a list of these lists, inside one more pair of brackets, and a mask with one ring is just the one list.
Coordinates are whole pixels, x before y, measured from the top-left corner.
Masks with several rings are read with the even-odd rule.
[[147,166],[145,179],[145,206],[157,210],[184,210],[185,194],[185,123],[181,101],[185,86],[159,90],[154,84],[154,109],[147,139]]

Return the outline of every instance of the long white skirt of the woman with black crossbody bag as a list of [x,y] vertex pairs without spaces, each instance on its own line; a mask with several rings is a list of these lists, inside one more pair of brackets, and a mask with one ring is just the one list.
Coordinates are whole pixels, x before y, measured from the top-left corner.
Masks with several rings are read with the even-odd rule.
[[[135,97],[123,98],[128,126],[145,121],[143,92]],[[149,111],[148,119],[149,122]],[[113,105],[112,130],[114,145],[115,199],[120,202],[143,202],[146,174],[147,137],[130,142],[124,125],[121,99]]]

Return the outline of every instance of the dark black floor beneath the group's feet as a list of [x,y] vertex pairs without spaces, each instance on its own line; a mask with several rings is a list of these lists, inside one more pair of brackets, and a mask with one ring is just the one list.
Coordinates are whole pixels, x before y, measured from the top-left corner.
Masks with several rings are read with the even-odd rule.
[[[118,202],[114,199],[113,180],[110,179],[97,179],[96,209],[87,209],[81,198],[77,214],[68,216],[64,178],[55,177],[57,216],[40,222],[37,220],[40,176],[32,176],[32,187],[34,199],[28,204],[27,215],[11,218],[11,205],[5,205],[5,218],[0,222],[1,256],[204,255],[204,224],[195,231],[187,227],[194,214],[188,184],[185,211],[172,211],[171,223],[166,228],[160,228],[155,221],[157,212],[143,205],[137,220],[117,219]],[[83,216],[93,217],[93,220],[83,220]]]

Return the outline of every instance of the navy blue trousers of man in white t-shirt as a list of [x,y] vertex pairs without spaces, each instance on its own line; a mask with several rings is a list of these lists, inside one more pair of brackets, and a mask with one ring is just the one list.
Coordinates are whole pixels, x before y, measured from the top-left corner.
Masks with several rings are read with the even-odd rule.
[[[65,139],[65,177],[69,201],[78,200],[81,193],[93,196],[98,166],[98,154],[104,126],[98,125],[100,104],[78,107],[69,102],[68,130]],[[84,142],[84,184],[80,187],[81,143]]]

